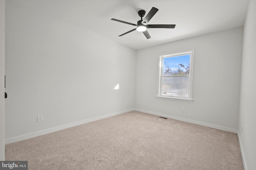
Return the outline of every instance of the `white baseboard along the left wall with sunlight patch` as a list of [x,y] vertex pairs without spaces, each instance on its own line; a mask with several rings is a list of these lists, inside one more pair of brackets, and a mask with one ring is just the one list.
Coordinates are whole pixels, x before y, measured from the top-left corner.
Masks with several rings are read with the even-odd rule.
[[110,113],[108,115],[94,117],[94,118],[91,118],[91,119],[86,119],[86,120],[70,123],[70,124],[67,124],[67,125],[62,125],[62,126],[59,126],[59,127],[54,127],[54,128],[46,129],[46,130],[43,130],[43,131],[38,131],[38,132],[35,132],[35,133],[30,133],[30,134],[22,135],[22,136],[19,136],[19,137],[14,137],[14,138],[11,138],[11,139],[6,139],[5,140],[5,145],[6,144],[10,144],[10,143],[14,143],[14,142],[18,142],[18,141],[22,141],[22,140],[25,140],[25,139],[29,139],[29,138],[32,138],[32,137],[37,137],[37,136],[40,136],[40,135],[45,135],[47,133],[56,132],[56,131],[59,131],[59,130],[62,130],[62,129],[67,129],[69,127],[74,127],[74,126],[77,126],[77,125],[82,125],[84,123],[89,123],[89,122],[100,120],[100,119],[104,119],[104,118],[107,118],[107,117],[112,117],[112,116],[115,116],[115,115],[120,115],[122,113],[126,113],[126,112],[129,112],[129,111],[134,111],[134,109],[128,109],[128,110],[119,111],[119,112],[116,112],[116,113]]

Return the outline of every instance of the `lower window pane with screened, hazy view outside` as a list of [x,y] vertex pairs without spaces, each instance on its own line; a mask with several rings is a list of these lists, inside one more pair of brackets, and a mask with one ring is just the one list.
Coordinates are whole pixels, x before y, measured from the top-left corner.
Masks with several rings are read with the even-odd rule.
[[188,97],[189,77],[162,77],[162,95]]

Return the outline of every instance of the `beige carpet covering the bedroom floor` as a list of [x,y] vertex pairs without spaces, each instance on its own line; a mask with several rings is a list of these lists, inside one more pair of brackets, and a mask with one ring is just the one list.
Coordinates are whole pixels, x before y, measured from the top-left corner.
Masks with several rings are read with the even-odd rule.
[[235,133],[132,111],[6,145],[29,170],[243,170]]

